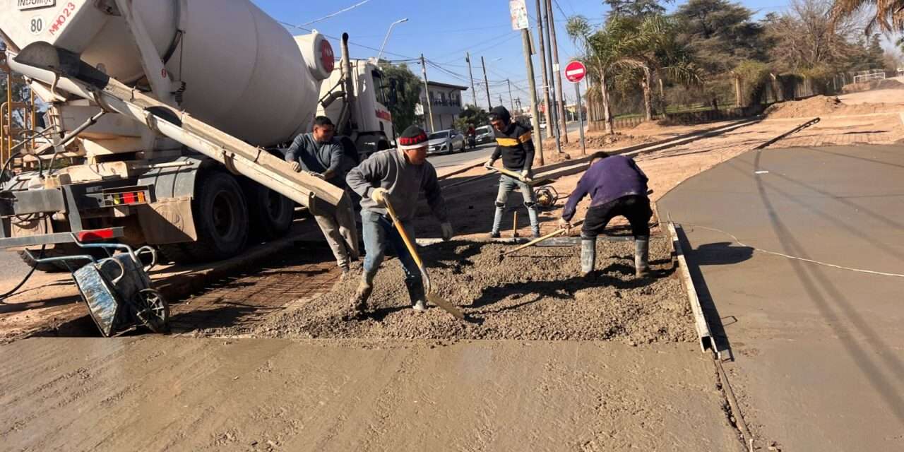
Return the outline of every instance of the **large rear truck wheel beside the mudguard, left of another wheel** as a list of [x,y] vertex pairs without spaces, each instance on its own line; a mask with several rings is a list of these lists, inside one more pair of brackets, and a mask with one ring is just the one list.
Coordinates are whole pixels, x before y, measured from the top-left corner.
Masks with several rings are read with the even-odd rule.
[[192,213],[198,240],[183,243],[183,249],[197,261],[239,254],[248,240],[248,205],[239,182],[215,171],[202,174],[196,185]]

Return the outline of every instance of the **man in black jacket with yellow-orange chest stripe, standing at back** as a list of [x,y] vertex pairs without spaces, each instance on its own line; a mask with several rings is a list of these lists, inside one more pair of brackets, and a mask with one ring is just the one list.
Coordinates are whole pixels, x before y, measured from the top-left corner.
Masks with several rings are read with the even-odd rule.
[[[522,177],[531,177],[531,165],[533,164],[533,140],[531,129],[520,123],[513,122],[508,110],[502,106],[490,111],[490,125],[494,128],[496,137],[496,149],[485,166],[492,167],[501,156],[503,166],[509,171],[521,174]],[[499,193],[496,195],[496,212],[493,218],[493,231],[491,238],[499,237],[499,228],[503,222],[505,202],[509,193],[517,187],[524,198],[524,207],[527,208],[528,218],[531,220],[532,237],[540,237],[540,222],[537,218],[537,200],[533,190],[527,183],[507,174],[499,176]]]

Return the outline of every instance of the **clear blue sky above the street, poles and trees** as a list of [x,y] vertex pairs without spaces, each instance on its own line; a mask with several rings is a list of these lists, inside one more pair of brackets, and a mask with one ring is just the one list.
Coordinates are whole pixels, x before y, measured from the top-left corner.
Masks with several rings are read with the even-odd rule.
[[[292,0],[252,0],[255,5],[266,11],[278,21],[287,24],[306,24],[333,14],[348,6],[361,3],[363,0],[338,0],[330,2],[299,2]],[[758,17],[769,12],[781,12],[790,0],[745,0],[742,5],[757,12]],[[536,0],[526,0],[528,14],[531,16],[531,31],[536,36]],[[677,2],[678,4],[683,1]],[[673,9],[675,4],[666,5]],[[591,22],[600,23],[607,11],[601,0],[555,0],[553,10],[556,19],[556,32],[559,42],[559,59],[562,66],[577,54],[575,46],[565,33],[565,20],[573,14],[583,14]],[[408,22],[398,24],[392,31],[382,56],[383,59],[407,60],[418,58],[420,53],[431,61],[428,64],[430,80],[468,86],[468,71],[465,52],[471,52],[471,61],[475,82],[482,81],[483,71],[480,68],[480,57],[486,61],[487,79],[490,84],[490,96],[494,104],[499,95],[508,105],[508,88],[505,80],[511,80],[513,97],[528,102],[526,70],[522,51],[521,34],[511,28],[507,0],[485,1],[412,1],[412,0],[367,0],[332,18],[305,25],[315,28],[321,33],[339,37],[349,33],[353,58],[376,56],[383,36],[389,25],[401,18]],[[293,34],[305,33],[297,28],[288,27]],[[339,42],[331,40],[338,55]],[[366,47],[363,47],[366,46]],[[370,48],[368,48],[370,47]],[[419,63],[410,63],[412,71],[420,74]],[[442,68],[442,69],[440,69]],[[534,57],[534,71],[539,83],[540,61]],[[570,83],[563,83],[570,85]],[[567,98],[573,97],[570,86],[563,87]],[[477,87],[477,101],[485,105],[486,95],[483,86]],[[471,90],[464,94],[464,100],[471,102]]]

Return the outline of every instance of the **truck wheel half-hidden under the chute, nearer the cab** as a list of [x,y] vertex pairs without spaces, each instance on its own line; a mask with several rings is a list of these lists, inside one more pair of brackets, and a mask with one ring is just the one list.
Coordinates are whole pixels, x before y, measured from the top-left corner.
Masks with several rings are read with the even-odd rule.
[[244,187],[250,211],[251,235],[260,240],[286,235],[295,218],[295,202],[251,181]]

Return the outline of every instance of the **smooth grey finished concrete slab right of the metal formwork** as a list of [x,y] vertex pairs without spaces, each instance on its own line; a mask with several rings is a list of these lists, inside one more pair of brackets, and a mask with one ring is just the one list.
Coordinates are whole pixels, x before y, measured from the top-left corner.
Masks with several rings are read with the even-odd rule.
[[[758,444],[904,449],[904,146],[749,152],[659,202],[682,223]],[[707,229],[711,228],[711,229]]]

